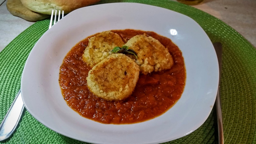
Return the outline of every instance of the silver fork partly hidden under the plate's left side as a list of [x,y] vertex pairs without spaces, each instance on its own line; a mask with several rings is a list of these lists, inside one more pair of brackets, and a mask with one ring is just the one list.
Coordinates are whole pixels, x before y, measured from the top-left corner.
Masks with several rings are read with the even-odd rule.
[[[63,18],[64,11],[62,11],[62,14],[61,14],[60,11],[59,13],[57,13],[57,10],[55,10],[55,15],[54,15],[54,10],[52,10],[49,29],[52,27],[53,24],[58,22],[56,21],[57,15],[58,15],[58,21],[60,21],[60,15],[62,15],[62,18]],[[53,16],[54,16],[54,23],[52,24]],[[12,135],[12,133],[14,133],[17,126],[19,125],[19,121],[22,117],[23,110],[24,110],[24,103],[22,101],[21,90],[19,90],[13,103],[11,104],[11,107],[9,108],[7,114],[5,115],[0,125],[0,141],[4,141],[8,139]]]

